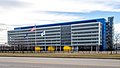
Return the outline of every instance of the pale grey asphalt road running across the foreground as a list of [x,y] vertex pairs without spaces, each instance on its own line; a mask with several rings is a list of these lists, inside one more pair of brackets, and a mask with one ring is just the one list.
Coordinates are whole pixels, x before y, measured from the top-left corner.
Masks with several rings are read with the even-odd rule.
[[120,60],[0,57],[0,68],[120,68]]

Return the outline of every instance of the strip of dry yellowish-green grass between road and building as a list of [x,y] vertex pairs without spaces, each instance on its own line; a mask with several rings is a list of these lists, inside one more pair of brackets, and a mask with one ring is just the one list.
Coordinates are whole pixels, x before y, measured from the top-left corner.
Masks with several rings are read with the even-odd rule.
[[0,57],[56,57],[56,58],[106,58],[120,59],[120,54],[106,53],[0,53]]

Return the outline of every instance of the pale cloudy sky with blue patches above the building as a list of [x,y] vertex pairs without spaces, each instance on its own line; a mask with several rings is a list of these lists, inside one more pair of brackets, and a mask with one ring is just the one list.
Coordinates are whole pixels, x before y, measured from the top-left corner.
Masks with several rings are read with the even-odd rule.
[[0,0],[0,42],[7,41],[7,30],[18,26],[109,16],[120,32],[120,0]]

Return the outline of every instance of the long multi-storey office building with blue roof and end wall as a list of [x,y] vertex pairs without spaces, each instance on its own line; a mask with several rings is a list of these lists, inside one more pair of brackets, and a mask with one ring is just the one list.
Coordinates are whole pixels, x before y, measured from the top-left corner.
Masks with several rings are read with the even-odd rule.
[[[112,46],[112,24],[104,18],[14,28],[8,31],[8,44],[12,46],[39,46],[42,50],[52,46],[62,51],[106,50]],[[108,26],[109,25],[109,26]],[[110,33],[111,32],[111,33]],[[109,38],[109,39],[108,39]],[[111,42],[110,42],[111,41]]]

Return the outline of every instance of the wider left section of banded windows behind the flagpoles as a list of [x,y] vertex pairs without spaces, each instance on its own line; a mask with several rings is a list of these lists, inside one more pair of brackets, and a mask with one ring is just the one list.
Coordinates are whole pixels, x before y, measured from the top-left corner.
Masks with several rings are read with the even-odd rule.
[[[35,31],[31,29],[8,31],[8,43],[10,45],[60,45],[60,26],[36,28]],[[43,31],[45,35],[41,36]]]

